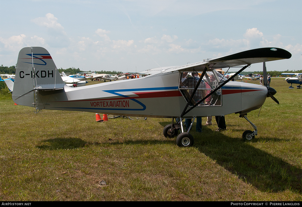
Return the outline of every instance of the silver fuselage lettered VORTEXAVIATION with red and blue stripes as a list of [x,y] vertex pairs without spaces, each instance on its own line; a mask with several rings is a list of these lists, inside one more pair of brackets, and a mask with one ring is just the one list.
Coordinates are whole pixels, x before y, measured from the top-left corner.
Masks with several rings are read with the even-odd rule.
[[[87,111],[146,117],[179,117],[187,102],[178,88],[179,72],[107,82],[80,88],[35,91],[37,109]],[[267,96],[264,86],[231,81],[222,87],[221,106],[195,107],[185,117],[220,116],[258,109]]]

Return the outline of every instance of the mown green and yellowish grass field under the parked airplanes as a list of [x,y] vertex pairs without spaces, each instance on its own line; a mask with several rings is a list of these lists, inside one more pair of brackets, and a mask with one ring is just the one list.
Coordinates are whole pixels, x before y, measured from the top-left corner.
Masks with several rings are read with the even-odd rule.
[[280,105],[267,98],[259,117],[248,114],[251,142],[242,133],[252,126],[230,114],[227,131],[215,132],[214,119],[202,133],[193,126],[190,148],[163,136],[170,119],[35,114],[2,94],[0,200],[302,201],[302,89],[288,86],[272,78]]

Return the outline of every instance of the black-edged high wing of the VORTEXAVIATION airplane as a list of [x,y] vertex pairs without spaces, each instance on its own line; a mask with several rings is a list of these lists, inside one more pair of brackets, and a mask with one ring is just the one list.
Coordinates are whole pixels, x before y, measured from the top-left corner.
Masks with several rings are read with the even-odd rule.
[[203,71],[206,67],[210,70],[217,68],[229,68],[236,67],[240,65],[250,65],[259,62],[268,62],[272,60],[289,59],[291,53],[280,48],[259,48],[247,50],[241,53],[236,53],[229,56],[223,56],[220,58],[204,60],[203,62],[197,62],[189,65],[184,65],[180,67],[173,67],[166,69],[162,73],[174,72],[174,71],[186,71],[186,70],[196,70]]

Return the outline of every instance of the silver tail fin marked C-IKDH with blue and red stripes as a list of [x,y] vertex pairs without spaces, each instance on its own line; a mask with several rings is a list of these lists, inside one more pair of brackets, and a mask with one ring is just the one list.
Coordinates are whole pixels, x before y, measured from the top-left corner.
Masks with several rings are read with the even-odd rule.
[[65,86],[49,52],[42,47],[20,50],[12,98],[15,103],[34,107],[35,91],[52,91]]

